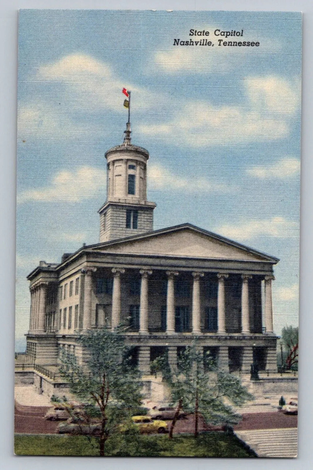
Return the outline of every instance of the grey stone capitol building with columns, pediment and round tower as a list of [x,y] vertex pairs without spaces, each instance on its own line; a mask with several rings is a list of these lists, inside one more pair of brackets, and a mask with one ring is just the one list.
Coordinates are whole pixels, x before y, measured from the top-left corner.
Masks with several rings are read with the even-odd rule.
[[125,341],[144,374],[150,360],[177,353],[194,337],[219,367],[277,371],[273,333],[273,265],[279,260],[184,223],[153,230],[147,201],[147,150],[131,143],[109,149],[107,197],[99,210],[100,241],[40,261],[31,290],[27,357],[56,366],[62,350],[82,363],[77,341],[86,330],[129,322]]

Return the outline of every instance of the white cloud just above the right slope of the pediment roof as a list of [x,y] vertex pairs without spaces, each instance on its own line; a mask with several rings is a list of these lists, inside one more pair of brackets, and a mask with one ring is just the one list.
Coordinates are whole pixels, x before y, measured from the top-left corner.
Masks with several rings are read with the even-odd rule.
[[236,225],[222,225],[216,232],[235,240],[249,240],[260,236],[287,238],[298,236],[298,226],[296,222],[283,217],[273,217],[249,219]]

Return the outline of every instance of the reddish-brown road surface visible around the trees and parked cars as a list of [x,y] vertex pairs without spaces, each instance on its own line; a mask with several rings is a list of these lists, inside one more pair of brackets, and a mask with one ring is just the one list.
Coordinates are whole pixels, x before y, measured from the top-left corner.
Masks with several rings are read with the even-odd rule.
[[[43,416],[48,407],[21,406],[15,408],[15,432],[24,434],[56,434],[58,423],[48,421]],[[168,424],[170,425],[170,421]],[[234,426],[234,430],[256,430],[296,428],[297,416],[284,415],[279,412],[271,413],[245,413],[242,414],[241,423]],[[189,415],[187,419],[178,420],[174,432],[193,432],[194,416]],[[199,431],[218,431],[220,427],[207,426],[203,419],[199,419]]]

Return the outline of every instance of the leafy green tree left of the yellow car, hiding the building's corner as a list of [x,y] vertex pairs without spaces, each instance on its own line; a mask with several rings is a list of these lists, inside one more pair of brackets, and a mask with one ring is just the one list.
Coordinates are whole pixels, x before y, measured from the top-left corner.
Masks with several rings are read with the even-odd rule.
[[70,392],[100,410],[100,455],[117,423],[129,417],[131,407],[140,405],[142,399],[140,373],[131,365],[131,348],[124,345],[122,332],[121,328],[103,328],[82,335],[80,343],[89,353],[85,366],[71,354],[64,353],[61,359],[60,373]]

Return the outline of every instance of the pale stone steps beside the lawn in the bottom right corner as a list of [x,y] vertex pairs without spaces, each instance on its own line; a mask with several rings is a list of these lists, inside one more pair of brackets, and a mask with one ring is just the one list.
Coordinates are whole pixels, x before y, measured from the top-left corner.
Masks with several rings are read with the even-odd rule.
[[258,457],[297,457],[297,428],[234,432]]

